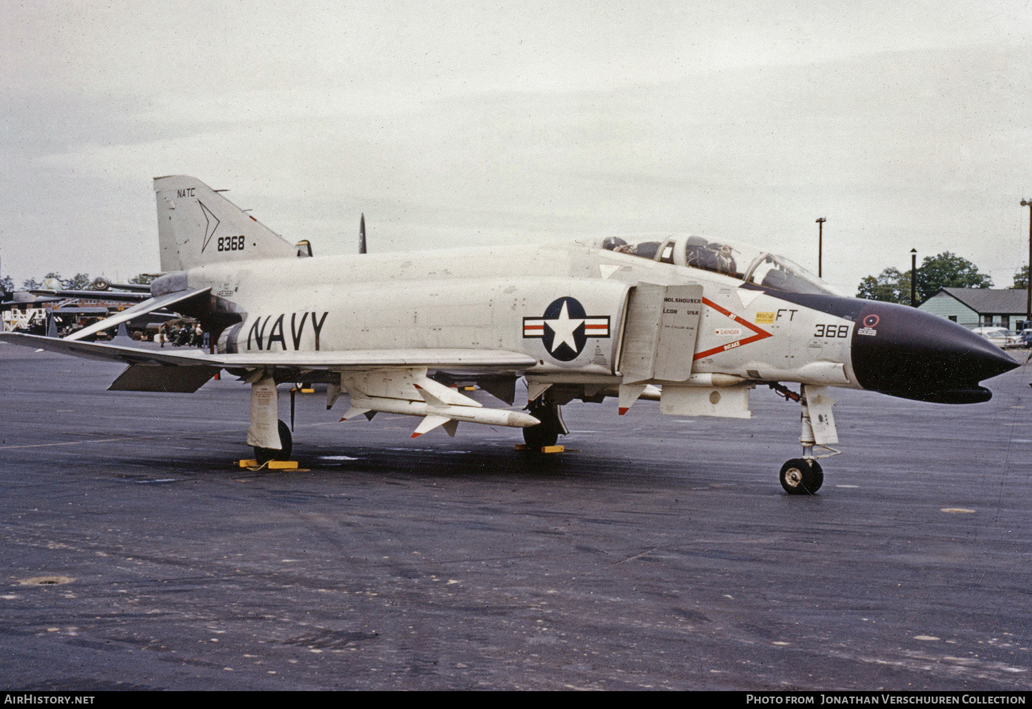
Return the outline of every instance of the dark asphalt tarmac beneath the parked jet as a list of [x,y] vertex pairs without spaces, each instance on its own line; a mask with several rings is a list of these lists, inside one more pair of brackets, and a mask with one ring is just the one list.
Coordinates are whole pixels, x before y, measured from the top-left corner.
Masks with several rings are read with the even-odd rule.
[[299,395],[305,470],[252,473],[249,387],[121,368],[0,345],[0,687],[1032,686],[1028,366],[972,406],[836,390],[812,497],[767,389],[572,404],[544,458]]

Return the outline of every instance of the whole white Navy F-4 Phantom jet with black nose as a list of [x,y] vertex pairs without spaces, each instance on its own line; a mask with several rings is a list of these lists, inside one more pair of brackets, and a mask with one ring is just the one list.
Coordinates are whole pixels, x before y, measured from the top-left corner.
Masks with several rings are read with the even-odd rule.
[[[377,412],[420,418],[413,436],[459,422],[523,429],[530,448],[567,433],[560,407],[640,398],[663,414],[748,418],[767,385],[801,406],[802,456],[781,485],[813,493],[817,458],[837,453],[834,387],[937,404],[992,394],[985,379],[1017,362],[956,323],[902,305],[844,297],[792,261],[687,234],[599,244],[311,257],[194,178],[154,181],[164,275],[149,297],[63,340],[8,342],[128,364],[112,390],[196,391],[225,369],[251,385],[247,443],[285,458],[277,385],[324,382],[343,420]],[[146,294],[144,294],[146,296]],[[209,352],[85,342],[168,308],[212,333]],[[524,378],[523,411],[505,404]],[[795,389],[793,388],[795,387]]]

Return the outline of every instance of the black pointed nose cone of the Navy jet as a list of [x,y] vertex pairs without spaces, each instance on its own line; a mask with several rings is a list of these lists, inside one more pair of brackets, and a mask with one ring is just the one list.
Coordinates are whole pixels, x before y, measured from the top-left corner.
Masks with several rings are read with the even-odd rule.
[[857,318],[852,368],[865,389],[940,404],[988,401],[979,382],[1018,366],[957,323],[915,308],[870,301]]

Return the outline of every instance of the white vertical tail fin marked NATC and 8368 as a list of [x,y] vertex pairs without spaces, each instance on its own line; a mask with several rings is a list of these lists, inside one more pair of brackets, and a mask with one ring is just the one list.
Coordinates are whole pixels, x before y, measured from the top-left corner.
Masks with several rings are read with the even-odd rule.
[[297,248],[195,178],[154,179],[161,269],[287,258]]

